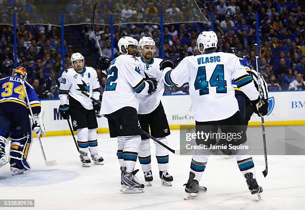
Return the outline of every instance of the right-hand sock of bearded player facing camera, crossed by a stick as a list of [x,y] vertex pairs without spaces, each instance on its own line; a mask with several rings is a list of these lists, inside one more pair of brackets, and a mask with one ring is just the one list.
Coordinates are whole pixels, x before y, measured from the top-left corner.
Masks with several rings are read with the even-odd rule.
[[[163,144],[167,145],[167,139],[157,138],[158,141],[162,142]],[[155,157],[158,162],[159,171],[167,171],[168,170],[168,150],[159,145],[158,143],[154,142],[155,144]]]

